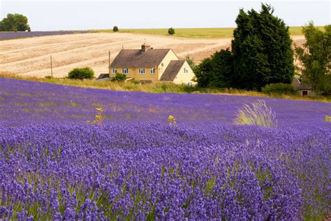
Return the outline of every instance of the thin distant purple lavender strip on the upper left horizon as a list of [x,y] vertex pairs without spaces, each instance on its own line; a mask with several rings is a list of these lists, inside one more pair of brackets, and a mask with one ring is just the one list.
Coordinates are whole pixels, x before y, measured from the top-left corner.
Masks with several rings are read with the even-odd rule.
[[60,34],[82,34],[88,33],[89,31],[0,31],[0,41],[9,40],[16,38],[31,38],[38,36],[50,36],[50,35],[60,35]]

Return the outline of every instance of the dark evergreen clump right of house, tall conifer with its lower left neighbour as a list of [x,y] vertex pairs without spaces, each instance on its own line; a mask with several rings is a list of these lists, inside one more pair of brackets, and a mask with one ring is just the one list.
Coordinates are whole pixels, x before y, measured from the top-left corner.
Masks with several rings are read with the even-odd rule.
[[292,40],[283,20],[262,4],[260,13],[240,10],[232,50],[215,52],[196,69],[199,87],[261,90],[272,83],[291,83],[294,75]]

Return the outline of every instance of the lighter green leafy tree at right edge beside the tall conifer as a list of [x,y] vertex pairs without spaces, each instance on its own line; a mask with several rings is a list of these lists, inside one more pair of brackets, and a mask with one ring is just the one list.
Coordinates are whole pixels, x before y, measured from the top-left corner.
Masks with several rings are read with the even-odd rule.
[[[309,22],[302,27],[302,33],[306,38],[303,48],[295,46],[295,56],[301,66],[297,68],[303,78],[307,78],[315,92],[330,94],[330,70],[331,70],[331,24],[321,31]],[[328,75],[328,76],[326,76]]]

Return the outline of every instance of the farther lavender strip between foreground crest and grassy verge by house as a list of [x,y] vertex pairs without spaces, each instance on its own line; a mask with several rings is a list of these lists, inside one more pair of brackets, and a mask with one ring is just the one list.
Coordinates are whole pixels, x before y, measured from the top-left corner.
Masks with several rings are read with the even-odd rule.
[[331,115],[331,104],[265,97],[212,94],[149,94],[95,90],[25,80],[0,78],[0,124],[20,126],[42,122],[93,120],[103,107],[105,123],[167,122],[178,124],[233,123],[235,111],[244,104],[263,99],[276,113],[279,125],[323,124]]

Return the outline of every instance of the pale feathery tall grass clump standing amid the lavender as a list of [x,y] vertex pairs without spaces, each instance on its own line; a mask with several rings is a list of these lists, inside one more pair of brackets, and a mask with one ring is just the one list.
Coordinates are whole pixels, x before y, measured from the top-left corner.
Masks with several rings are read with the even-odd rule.
[[249,106],[245,104],[235,113],[235,124],[277,127],[276,113],[268,107],[264,100],[255,101]]

